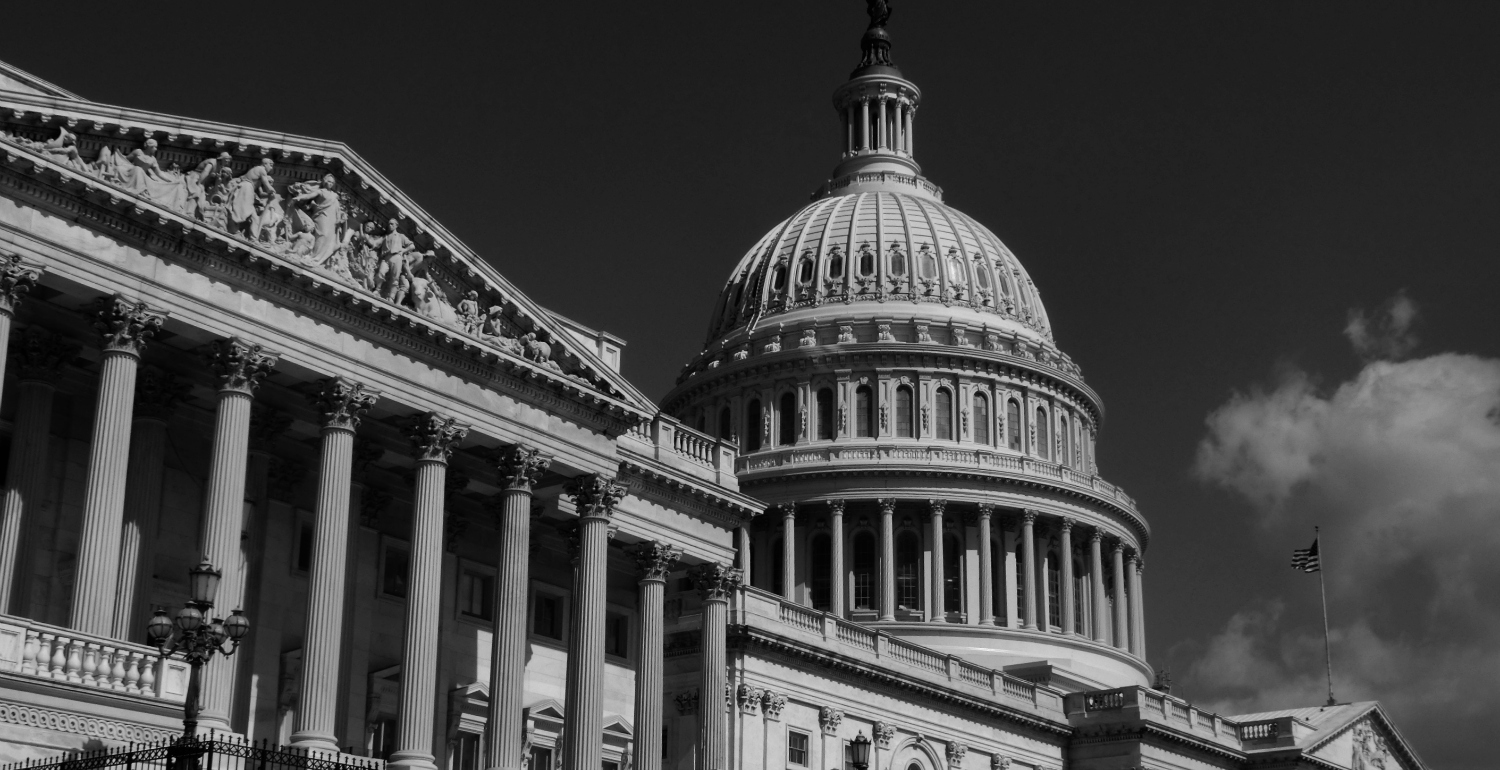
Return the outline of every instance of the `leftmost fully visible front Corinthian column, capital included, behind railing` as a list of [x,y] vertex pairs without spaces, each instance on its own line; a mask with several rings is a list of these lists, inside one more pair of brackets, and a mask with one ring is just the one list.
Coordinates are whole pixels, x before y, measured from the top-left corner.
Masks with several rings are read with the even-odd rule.
[[99,636],[114,630],[116,581],[120,578],[120,522],[124,513],[124,470],[130,452],[130,404],[141,351],[166,314],[114,296],[93,308],[94,329],[104,335],[104,360],[94,429],[88,444],[78,573],[74,579],[72,627]]

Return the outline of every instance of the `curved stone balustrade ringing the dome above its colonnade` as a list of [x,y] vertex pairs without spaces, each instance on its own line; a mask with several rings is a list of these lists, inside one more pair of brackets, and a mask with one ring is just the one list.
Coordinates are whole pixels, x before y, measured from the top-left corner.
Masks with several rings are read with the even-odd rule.
[[1140,516],[1136,500],[1119,486],[1102,477],[1072,470],[1056,462],[1017,455],[1010,450],[980,447],[974,444],[928,444],[916,441],[858,443],[838,441],[832,444],[776,447],[740,456],[736,470],[748,477],[786,470],[810,470],[818,467],[930,467],[933,470],[962,468],[964,471],[996,473],[1026,479],[1046,479],[1060,486],[1089,492],[1101,501],[1114,504],[1132,516]]

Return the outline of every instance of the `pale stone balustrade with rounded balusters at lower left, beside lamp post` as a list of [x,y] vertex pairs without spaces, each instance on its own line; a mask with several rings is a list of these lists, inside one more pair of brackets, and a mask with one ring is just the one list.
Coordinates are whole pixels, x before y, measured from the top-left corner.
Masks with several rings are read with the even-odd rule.
[[154,647],[0,615],[0,672],[183,702],[188,663]]

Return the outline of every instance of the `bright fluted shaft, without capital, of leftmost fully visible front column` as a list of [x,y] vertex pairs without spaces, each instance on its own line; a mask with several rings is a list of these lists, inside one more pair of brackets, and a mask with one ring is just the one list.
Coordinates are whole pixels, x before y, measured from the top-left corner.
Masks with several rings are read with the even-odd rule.
[[124,471],[130,453],[130,405],[135,401],[138,362],[140,354],[135,351],[104,351],[94,428],[88,444],[88,480],[69,624],[99,636],[114,632]]

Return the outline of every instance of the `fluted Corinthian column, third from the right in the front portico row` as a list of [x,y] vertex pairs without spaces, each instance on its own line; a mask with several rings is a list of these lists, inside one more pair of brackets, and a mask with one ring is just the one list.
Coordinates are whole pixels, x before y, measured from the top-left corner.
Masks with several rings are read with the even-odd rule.
[[564,770],[598,770],[604,728],[604,567],[609,515],[626,488],[598,474],[567,483],[578,507],[578,569],[573,576],[573,638],[567,648],[562,722]]

